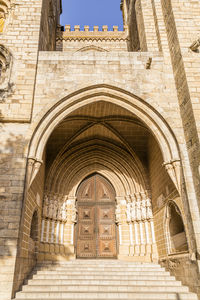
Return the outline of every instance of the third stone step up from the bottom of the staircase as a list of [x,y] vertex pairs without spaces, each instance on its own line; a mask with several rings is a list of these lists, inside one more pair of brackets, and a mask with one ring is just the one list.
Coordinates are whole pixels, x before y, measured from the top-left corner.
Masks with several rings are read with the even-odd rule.
[[43,279],[42,281],[40,279],[31,279],[28,280],[28,285],[29,286],[52,286],[52,285],[147,285],[147,286],[154,286],[154,285],[160,285],[160,286],[181,286],[181,282],[180,281],[175,281],[175,280],[162,280],[162,279],[152,279],[152,278],[147,278],[144,279],[141,277],[141,279],[136,279],[135,280],[125,280],[125,279],[105,279],[105,278],[101,278],[101,279],[92,279],[92,280],[88,280],[88,279],[68,279],[68,280],[59,280],[59,279]]

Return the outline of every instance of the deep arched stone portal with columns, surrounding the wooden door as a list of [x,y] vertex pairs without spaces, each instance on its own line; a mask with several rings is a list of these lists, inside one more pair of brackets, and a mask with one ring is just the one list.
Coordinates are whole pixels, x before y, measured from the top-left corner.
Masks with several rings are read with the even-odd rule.
[[[155,261],[167,255],[165,204],[180,198],[181,176],[177,142],[163,117],[134,94],[98,85],[63,98],[36,123],[27,179],[31,189],[43,160],[40,257],[81,256],[74,236],[77,190],[97,173],[115,191],[117,256]],[[87,247],[97,255],[98,248]]]

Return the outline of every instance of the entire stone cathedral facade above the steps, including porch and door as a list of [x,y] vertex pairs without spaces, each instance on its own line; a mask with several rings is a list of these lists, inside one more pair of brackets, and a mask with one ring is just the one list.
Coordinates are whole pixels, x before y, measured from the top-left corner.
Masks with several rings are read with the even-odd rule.
[[200,2],[121,10],[123,31],[81,30],[61,0],[0,0],[1,300],[77,257],[200,294]]

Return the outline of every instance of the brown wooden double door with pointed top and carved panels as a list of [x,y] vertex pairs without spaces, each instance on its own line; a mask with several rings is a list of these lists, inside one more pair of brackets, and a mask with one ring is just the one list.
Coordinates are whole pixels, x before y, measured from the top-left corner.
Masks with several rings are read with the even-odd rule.
[[115,191],[102,176],[85,179],[77,192],[78,258],[116,258]]

